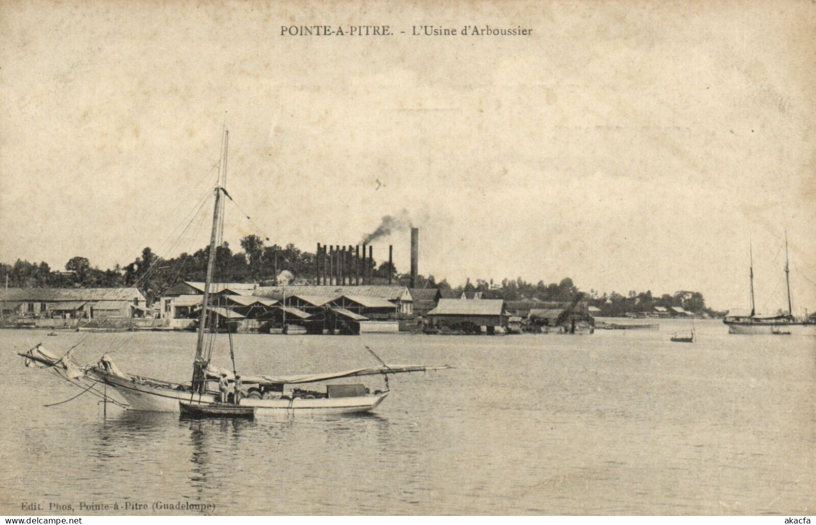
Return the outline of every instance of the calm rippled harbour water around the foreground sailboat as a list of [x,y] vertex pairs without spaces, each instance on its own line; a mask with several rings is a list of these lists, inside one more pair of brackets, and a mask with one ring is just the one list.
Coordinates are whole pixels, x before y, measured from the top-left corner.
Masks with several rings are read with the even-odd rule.
[[[110,406],[103,420],[91,396],[42,407],[78,389],[12,350],[42,340],[62,353],[86,334],[0,331],[0,514],[156,501],[215,514],[813,514],[816,339],[729,336],[712,321],[694,345],[668,341],[685,326],[236,336],[246,374],[376,364],[364,344],[390,363],[456,367],[393,377],[371,415],[254,422]],[[94,334],[76,354],[94,362],[129,340],[113,354],[123,370],[186,380],[194,338]],[[228,363],[223,348],[216,361]]]

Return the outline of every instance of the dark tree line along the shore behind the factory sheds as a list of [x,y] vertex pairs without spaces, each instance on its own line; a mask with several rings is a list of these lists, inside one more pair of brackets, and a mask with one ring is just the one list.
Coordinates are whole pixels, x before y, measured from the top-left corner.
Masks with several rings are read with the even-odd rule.
[[[273,244],[267,246],[257,235],[247,235],[240,241],[241,251],[233,251],[228,242],[216,247],[215,276],[219,282],[275,284],[279,278],[286,278],[295,284],[315,283],[315,254],[302,251],[294,244],[286,247]],[[91,260],[74,256],[66,264],[64,271],[53,270],[46,262],[31,263],[17,260],[13,265],[0,264],[0,286],[9,287],[138,287],[149,301],[162,296],[167,288],[180,281],[204,281],[210,247],[203,247],[193,253],[184,252],[180,256],[164,259],[149,247],[142,250],[127,265],[115,265],[112,269],[100,269],[91,265]],[[410,274],[397,271],[388,261],[377,264],[376,260],[366,260],[366,272],[372,284],[386,284],[390,275],[393,284],[410,285]],[[465,283],[451,287],[446,279],[437,282],[433,275],[418,275],[415,287],[439,288],[443,296],[459,297],[481,292],[485,299],[546,301],[571,301],[581,296],[589,305],[601,309],[603,314],[623,315],[629,312],[650,312],[654,306],[670,308],[681,306],[692,312],[707,311],[703,294],[698,291],[676,291],[674,294],[652,296],[651,291],[629,291],[626,296],[617,292],[600,294],[595,290],[583,293],[572,279],[564,278],[559,283],[527,283],[522,278],[503,279],[494,283],[484,279],[470,278]]]

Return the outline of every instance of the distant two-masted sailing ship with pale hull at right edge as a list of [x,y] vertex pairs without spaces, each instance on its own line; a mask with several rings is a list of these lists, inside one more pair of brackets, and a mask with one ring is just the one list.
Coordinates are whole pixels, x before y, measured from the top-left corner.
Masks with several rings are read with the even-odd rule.
[[787,233],[785,234],[785,283],[787,284],[787,314],[761,315],[756,313],[754,302],[754,254],[751,254],[751,314],[726,315],[722,322],[730,334],[774,334],[816,336],[816,321],[795,318],[791,301],[790,263],[787,256]]

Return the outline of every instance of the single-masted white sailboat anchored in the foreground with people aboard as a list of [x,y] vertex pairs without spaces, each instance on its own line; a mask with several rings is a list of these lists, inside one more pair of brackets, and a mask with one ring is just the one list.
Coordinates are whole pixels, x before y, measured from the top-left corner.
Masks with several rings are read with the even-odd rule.
[[[227,407],[228,399],[220,396],[218,381],[226,376],[228,385],[236,390],[237,374],[235,372],[235,358],[233,338],[229,334],[230,354],[233,358],[233,372],[211,365],[212,350],[215,342],[215,317],[211,315],[210,290],[215,267],[216,246],[219,243],[224,224],[224,200],[229,197],[224,188],[227,171],[229,133],[224,130],[222,143],[222,157],[220,176],[215,186],[215,207],[213,211],[212,233],[210,238],[210,252],[207,260],[206,282],[202,302],[201,318],[198,326],[196,353],[193,360],[193,377],[188,383],[178,384],[171,381],[159,380],[150,377],[138,376],[122,372],[109,355],[104,354],[98,363],[81,367],[69,351],[61,357],[51,354],[42,345],[37,345],[28,352],[19,353],[25,359],[26,366],[47,368],[55,372],[61,379],[68,380],[75,386],[85,388],[90,392],[109,401],[107,387],[112,388],[124,398],[126,403],[118,403],[130,410],[151,412],[182,412],[188,415],[212,416],[215,412],[222,415],[248,416],[251,412],[308,412],[308,413],[352,413],[374,410],[388,396],[388,375],[426,372],[432,370],[449,369],[448,365],[393,365],[386,364],[373,350],[366,349],[374,354],[379,361],[378,366],[363,367],[344,372],[330,372],[318,374],[301,374],[295,376],[246,376],[240,381],[237,395],[232,399],[233,407]],[[208,330],[208,325],[211,328]],[[205,333],[211,337],[205,338]],[[384,376],[385,389],[371,392],[365,385],[326,385],[325,389],[291,388],[292,385],[313,385],[329,380],[337,380],[360,376]],[[289,388],[287,388],[289,387]],[[204,410],[209,407],[209,410]],[[241,407],[241,408],[237,408]]]

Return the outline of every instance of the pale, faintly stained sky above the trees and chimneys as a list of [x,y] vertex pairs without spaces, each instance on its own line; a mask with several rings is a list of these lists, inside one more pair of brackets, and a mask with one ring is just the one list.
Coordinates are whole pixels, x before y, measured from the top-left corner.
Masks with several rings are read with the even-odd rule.
[[[813,311],[816,10],[714,4],[3,2],[0,260],[202,247],[204,222],[167,239],[210,191],[226,122],[236,247],[354,244],[405,213],[437,280],[570,277],[730,309],[748,306],[750,243],[769,312],[787,307],[787,230],[794,309]],[[407,271],[409,237],[375,258],[391,243]]]

